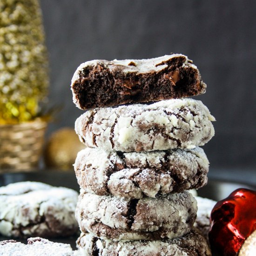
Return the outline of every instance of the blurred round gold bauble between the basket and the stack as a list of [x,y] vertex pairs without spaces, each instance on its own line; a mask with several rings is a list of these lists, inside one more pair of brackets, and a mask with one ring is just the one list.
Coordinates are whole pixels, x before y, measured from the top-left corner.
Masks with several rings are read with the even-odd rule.
[[47,167],[73,170],[77,153],[85,148],[73,128],[61,128],[49,138],[45,148]]

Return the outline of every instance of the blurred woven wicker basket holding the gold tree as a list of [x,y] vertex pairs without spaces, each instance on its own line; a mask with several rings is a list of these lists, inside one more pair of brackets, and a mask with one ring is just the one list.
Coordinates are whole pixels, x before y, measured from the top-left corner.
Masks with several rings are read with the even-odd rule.
[[30,171],[38,167],[47,122],[40,119],[0,125],[0,172]]

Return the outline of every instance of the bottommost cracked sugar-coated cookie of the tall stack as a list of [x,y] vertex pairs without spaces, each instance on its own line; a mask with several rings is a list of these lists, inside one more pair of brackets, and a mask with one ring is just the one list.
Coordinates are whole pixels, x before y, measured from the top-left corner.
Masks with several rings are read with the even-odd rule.
[[88,256],[211,256],[207,242],[195,229],[180,238],[131,242],[102,240],[82,233],[77,247]]

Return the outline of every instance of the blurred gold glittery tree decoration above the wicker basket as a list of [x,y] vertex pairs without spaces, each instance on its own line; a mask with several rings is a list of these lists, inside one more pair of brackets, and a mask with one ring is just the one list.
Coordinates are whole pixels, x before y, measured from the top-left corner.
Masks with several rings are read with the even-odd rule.
[[48,89],[38,0],[0,1],[0,124],[35,119]]

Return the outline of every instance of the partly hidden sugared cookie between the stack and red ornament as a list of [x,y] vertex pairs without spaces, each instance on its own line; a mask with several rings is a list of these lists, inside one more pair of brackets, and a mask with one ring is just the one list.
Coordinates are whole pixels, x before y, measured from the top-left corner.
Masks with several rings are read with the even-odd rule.
[[200,196],[195,196],[197,202],[197,214],[194,226],[200,229],[203,236],[208,240],[208,233],[210,229],[210,215],[213,207],[216,205],[216,201],[203,198]]

